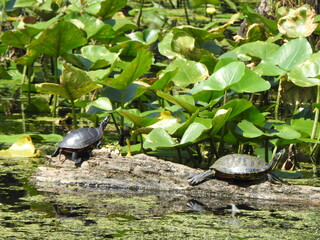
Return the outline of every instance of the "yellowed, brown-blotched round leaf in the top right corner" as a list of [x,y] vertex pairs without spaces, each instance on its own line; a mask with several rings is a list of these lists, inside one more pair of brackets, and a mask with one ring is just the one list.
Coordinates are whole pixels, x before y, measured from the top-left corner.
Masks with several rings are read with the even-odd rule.
[[318,26],[314,23],[315,15],[316,11],[309,5],[290,9],[286,16],[279,19],[278,29],[291,38],[309,37]]

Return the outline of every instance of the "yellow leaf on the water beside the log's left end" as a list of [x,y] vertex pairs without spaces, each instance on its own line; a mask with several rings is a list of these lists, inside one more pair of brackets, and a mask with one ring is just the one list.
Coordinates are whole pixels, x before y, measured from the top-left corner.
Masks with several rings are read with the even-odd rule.
[[35,153],[35,147],[30,136],[19,138],[7,150],[0,151],[0,157],[39,157],[40,152]]

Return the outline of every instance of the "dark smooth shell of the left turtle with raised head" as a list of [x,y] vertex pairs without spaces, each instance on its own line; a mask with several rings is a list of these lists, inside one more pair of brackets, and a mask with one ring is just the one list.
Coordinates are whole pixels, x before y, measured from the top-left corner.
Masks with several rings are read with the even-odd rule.
[[83,149],[92,146],[103,138],[101,128],[79,128],[65,136],[59,143],[59,148]]

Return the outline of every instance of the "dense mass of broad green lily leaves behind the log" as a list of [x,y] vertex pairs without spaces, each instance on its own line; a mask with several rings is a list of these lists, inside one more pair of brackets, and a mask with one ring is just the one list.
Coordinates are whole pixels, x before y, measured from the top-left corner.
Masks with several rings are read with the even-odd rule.
[[[268,142],[318,144],[320,93],[312,106],[315,119],[288,120],[295,112],[287,107],[283,88],[287,81],[319,87],[320,55],[306,38],[317,31],[319,16],[301,6],[278,11],[270,20],[249,5],[241,6],[242,14],[231,15],[221,12],[218,0],[190,3],[195,14],[215,5],[218,21],[211,21],[215,13],[210,13],[186,25],[181,16],[172,15],[177,9],[144,4],[136,9],[126,0],[15,1],[14,7],[34,16],[34,22],[10,22],[13,29],[1,33],[0,53],[11,68],[0,64],[0,81],[21,80],[18,87],[28,96],[36,83],[43,95],[28,99],[23,109],[31,112],[48,112],[43,96],[53,94],[59,98],[50,108],[67,99],[74,118],[96,120],[89,115],[112,113],[120,122],[119,133],[125,125],[131,128],[131,141],[142,146],[140,151],[192,152],[210,145],[217,147],[211,152],[222,154],[224,144],[232,144],[232,151]],[[132,10],[120,13],[125,6]],[[12,11],[4,12],[14,16]],[[230,33],[242,17],[247,32],[234,40]],[[11,56],[8,52],[14,58],[4,57]],[[278,112],[280,104],[287,115]],[[296,109],[308,105],[295,104]]]

